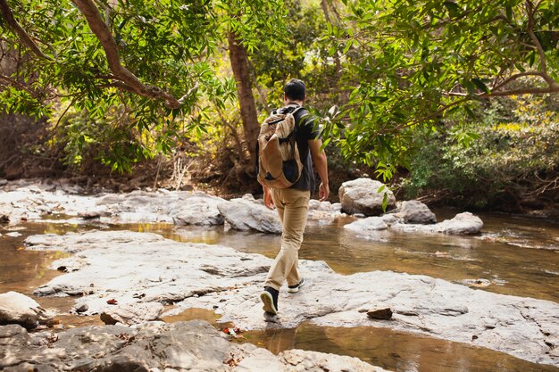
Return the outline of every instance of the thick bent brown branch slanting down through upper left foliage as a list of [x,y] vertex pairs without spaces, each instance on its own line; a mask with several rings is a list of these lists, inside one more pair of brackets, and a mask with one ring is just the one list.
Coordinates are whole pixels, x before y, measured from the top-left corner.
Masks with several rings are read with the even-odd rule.
[[[0,0],[4,1],[4,0]],[[115,79],[121,83],[114,83],[116,87],[123,88],[137,95],[142,95],[151,99],[161,99],[165,105],[171,109],[177,109],[182,104],[171,94],[159,87],[143,84],[136,75],[130,72],[121,64],[118,47],[114,41],[111,30],[107,27],[96,4],[92,0],[72,0],[84,17],[88,21],[89,28],[93,31],[99,42],[103,46],[104,53],[109,63],[109,69],[114,74]]]

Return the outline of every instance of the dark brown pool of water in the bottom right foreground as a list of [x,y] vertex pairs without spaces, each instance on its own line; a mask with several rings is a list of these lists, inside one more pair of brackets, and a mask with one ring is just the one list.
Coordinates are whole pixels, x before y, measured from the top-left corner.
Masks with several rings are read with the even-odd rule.
[[317,327],[248,332],[246,341],[273,353],[289,349],[331,352],[359,358],[395,372],[546,372],[559,368],[477,348],[386,328]]

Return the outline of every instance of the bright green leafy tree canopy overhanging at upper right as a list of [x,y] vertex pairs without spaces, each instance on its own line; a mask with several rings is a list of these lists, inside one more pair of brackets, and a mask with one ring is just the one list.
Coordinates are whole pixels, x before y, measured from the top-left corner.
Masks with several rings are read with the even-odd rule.
[[[559,92],[559,3],[552,0],[344,1],[341,51],[350,102],[327,118],[347,157],[390,176],[413,134],[502,95]],[[352,82],[359,83],[354,85]]]

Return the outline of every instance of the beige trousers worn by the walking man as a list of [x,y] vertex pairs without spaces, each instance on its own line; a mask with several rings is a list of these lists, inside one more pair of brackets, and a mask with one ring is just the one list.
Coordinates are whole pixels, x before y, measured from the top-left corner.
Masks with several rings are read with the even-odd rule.
[[283,230],[280,252],[271,265],[264,286],[271,286],[279,291],[286,279],[288,285],[296,285],[301,280],[297,271],[297,263],[299,248],[303,243],[303,233],[305,233],[311,192],[295,188],[272,188],[271,196],[278,209]]

